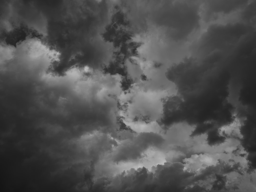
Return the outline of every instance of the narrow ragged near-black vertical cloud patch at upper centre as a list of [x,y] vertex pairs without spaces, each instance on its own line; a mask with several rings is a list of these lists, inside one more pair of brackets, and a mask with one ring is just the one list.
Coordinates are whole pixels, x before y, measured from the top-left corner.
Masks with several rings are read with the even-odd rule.
[[141,43],[132,40],[134,33],[130,22],[118,6],[115,7],[111,23],[106,26],[106,31],[102,36],[104,40],[112,42],[115,47],[112,60],[108,65],[104,65],[103,70],[112,75],[120,74],[122,76],[121,87],[126,91],[134,81],[127,72],[125,61],[131,56],[138,55],[137,48],[141,46]]

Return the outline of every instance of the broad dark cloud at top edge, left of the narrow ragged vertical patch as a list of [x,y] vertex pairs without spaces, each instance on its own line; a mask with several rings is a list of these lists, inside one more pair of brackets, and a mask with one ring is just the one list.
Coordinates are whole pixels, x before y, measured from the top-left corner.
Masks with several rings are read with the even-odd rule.
[[64,20],[48,19],[47,43],[61,52],[60,63],[54,63],[53,70],[61,74],[75,65],[99,66],[108,52],[99,33],[99,26],[108,18],[105,1],[68,3],[57,10]]

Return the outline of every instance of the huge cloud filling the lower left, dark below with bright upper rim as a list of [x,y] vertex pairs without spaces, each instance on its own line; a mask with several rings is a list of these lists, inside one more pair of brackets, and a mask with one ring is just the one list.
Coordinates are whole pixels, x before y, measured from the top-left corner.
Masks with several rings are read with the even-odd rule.
[[[73,191],[90,161],[116,145],[107,135],[114,133],[116,103],[99,101],[93,92],[103,84],[88,87],[78,71],[46,74],[49,50],[40,41],[9,48],[14,56],[0,70],[1,190]],[[86,133],[94,136],[83,141]]]

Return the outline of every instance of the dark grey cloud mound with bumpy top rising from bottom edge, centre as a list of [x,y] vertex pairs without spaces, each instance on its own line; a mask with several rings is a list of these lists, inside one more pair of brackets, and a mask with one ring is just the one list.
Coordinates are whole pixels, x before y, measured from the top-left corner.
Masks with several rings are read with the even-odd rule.
[[193,173],[184,172],[183,168],[181,163],[166,163],[157,165],[154,173],[145,167],[131,169],[113,178],[106,191],[186,191],[184,189]]

